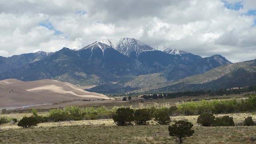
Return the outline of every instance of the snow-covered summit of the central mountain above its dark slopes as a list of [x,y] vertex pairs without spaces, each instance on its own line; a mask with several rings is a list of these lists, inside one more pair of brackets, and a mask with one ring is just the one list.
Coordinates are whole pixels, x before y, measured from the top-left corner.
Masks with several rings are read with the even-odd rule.
[[107,47],[111,47],[126,56],[130,56],[132,52],[135,52],[135,55],[138,56],[142,52],[154,50],[154,48],[152,48],[151,46],[148,46],[147,44],[144,44],[143,42],[136,40],[134,38],[105,39],[99,42],[96,41],[92,44],[89,44],[88,46],[85,46],[80,50],[92,50],[95,47],[99,47],[102,50],[102,53],[104,53],[104,50]]

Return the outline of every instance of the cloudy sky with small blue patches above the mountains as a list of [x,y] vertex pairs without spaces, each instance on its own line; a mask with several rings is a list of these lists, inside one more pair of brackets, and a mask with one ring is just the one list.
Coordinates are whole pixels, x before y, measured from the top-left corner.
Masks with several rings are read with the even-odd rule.
[[202,57],[256,59],[256,0],[1,0],[0,56],[135,38]]

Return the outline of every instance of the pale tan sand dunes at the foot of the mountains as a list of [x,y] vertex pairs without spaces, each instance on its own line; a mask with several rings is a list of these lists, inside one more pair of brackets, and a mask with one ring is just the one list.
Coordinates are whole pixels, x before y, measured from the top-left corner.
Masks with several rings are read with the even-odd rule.
[[22,82],[16,79],[0,81],[0,107],[48,104],[74,99],[109,99],[103,94],[87,92],[67,82],[38,80]]

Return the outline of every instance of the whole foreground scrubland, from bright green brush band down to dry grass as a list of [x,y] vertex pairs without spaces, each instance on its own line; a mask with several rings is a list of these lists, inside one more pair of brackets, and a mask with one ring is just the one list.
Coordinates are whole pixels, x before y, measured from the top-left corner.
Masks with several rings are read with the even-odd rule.
[[[175,106],[67,106],[43,114],[33,109],[26,116],[0,116],[0,143],[254,143],[255,110],[255,95]],[[182,124],[191,131],[179,137]]]

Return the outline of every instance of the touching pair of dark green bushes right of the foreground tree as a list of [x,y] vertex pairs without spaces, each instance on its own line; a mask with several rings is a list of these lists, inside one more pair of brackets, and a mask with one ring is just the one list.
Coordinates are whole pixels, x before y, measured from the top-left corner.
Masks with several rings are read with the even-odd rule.
[[213,114],[201,114],[197,118],[197,123],[202,126],[235,126],[234,120],[229,116],[215,118]]

